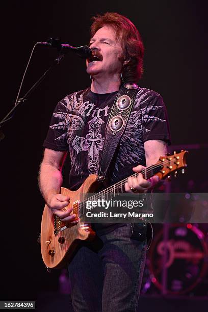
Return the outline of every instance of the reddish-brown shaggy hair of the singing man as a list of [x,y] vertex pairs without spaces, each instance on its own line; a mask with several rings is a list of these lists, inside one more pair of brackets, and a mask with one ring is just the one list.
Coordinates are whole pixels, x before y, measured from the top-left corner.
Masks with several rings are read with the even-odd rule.
[[123,65],[122,76],[125,82],[138,82],[143,73],[144,46],[135,25],[127,17],[118,13],[107,12],[92,18],[91,38],[98,29],[107,25],[115,31],[116,40],[121,42],[124,60],[130,60]]

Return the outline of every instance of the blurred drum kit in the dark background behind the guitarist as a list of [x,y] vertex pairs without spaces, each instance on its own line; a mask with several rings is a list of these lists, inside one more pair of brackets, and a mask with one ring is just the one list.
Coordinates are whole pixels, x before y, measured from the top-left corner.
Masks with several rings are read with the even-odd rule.
[[[172,180],[165,191],[183,192],[187,198],[198,192],[208,198],[202,150],[193,145],[185,148],[192,149],[187,173]],[[201,172],[198,172],[199,166],[196,168],[194,164],[199,152]],[[204,165],[206,152],[207,149],[204,150]],[[201,211],[208,216],[208,201],[203,199],[202,204]],[[187,212],[188,209],[185,207],[184,211]],[[141,294],[208,295],[208,222],[204,220],[202,223],[201,219],[199,222],[189,223],[186,217],[180,218],[177,223],[153,224],[154,237],[147,253]]]

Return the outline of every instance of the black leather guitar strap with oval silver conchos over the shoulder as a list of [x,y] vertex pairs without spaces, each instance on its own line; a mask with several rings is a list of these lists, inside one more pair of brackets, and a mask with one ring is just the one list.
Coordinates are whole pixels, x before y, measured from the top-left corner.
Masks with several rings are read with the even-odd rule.
[[105,180],[109,165],[134,105],[138,88],[138,85],[134,83],[125,83],[121,85],[118,91],[106,126],[105,141],[97,176],[100,183]]

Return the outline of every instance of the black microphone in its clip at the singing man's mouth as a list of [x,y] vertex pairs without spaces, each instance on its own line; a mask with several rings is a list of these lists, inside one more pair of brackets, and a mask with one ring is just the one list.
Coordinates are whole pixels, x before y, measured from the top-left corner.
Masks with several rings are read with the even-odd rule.
[[92,50],[87,45],[75,47],[67,43],[62,43],[61,40],[59,39],[50,38],[48,39],[48,42],[39,41],[37,42],[37,44],[45,45],[51,48],[56,48],[58,49],[60,54],[66,54],[69,51],[72,51],[73,53],[81,57],[82,59],[88,59],[92,55]]

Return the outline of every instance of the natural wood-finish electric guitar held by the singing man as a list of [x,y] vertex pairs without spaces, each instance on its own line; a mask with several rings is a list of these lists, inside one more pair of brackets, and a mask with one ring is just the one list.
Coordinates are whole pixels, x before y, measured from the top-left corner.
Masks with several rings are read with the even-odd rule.
[[[173,155],[160,157],[159,161],[141,171],[143,178],[148,179],[153,175],[158,175],[160,179],[169,177],[171,173],[175,176],[178,170],[185,172],[186,156],[188,151],[181,150]],[[131,175],[137,177],[138,173]],[[128,177],[127,177],[128,178]],[[82,216],[86,215],[86,201],[94,199],[106,199],[109,194],[115,197],[122,193],[127,178],[119,181],[115,185],[96,193],[96,196],[88,197],[87,193],[94,193],[98,189],[97,175],[91,174],[84,181],[77,191],[70,191],[61,188],[61,194],[70,196],[70,202],[67,207],[72,207],[71,214],[76,214],[79,221],[76,224],[66,224],[59,217],[54,215],[49,207],[45,205],[42,223],[41,223],[41,253],[43,262],[47,268],[61,268],[70,261],[73,251],[80,240],[93,240],[95,232],[90,224],[82,221]]]

